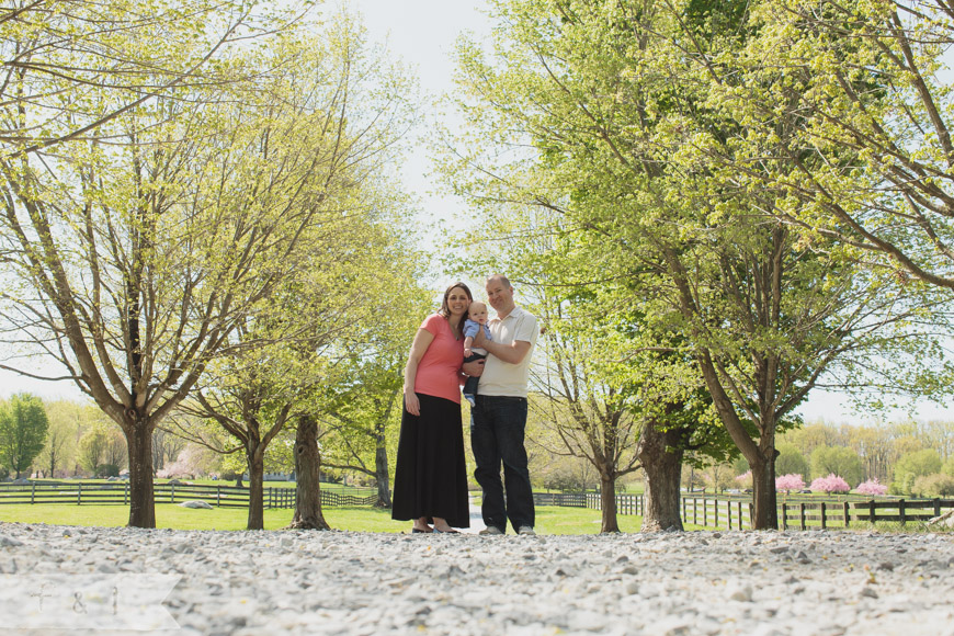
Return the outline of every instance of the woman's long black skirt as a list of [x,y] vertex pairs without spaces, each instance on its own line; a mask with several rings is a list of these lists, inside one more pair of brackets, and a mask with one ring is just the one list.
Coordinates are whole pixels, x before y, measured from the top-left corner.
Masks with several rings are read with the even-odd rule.
[[467,465],[461,405],[417,394],[421,414],[401,417],[391,518],[441,516],[454,527],[470,526]]

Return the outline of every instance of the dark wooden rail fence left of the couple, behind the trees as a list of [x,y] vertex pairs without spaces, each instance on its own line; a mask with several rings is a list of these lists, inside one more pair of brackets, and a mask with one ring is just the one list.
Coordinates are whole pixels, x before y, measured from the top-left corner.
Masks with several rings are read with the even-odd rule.
[[[248,508],[249,489],[236,486],[198,486],[190,484],[156,484],[152,486],[156,503],[205,501],[219,508]],[[42,482],[4,484],[0,486],[0,506],[11,503],[72,503],[125,504],[129,503],[128,482]],[[265,488],[263,503],[266,509],[295,508],[294,488]],[[321,490],[321,506],[374,506],[377,496],[342,495]]]

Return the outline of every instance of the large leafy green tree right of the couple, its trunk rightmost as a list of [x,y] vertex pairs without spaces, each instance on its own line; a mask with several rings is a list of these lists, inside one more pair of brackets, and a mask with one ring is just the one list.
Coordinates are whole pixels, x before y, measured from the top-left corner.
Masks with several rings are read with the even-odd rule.
[[775,527],[776,433],[822,376],[902,343],[912,313],[897,311],[891,281],[764,214],[774,193],[739,189],[695,149],[702,137],[731,152],[745,135],[743,118],[712,107],[711,80],[745,46],[748,4],[495,2],[493,61],[479,44],[458,54],[461,106],[488,149],[462,141],[447,170],[498,213],[556,212],[553,231],[598,254],[582,279],[639,281],[751,466],[754,526]]

